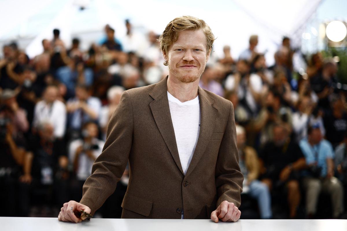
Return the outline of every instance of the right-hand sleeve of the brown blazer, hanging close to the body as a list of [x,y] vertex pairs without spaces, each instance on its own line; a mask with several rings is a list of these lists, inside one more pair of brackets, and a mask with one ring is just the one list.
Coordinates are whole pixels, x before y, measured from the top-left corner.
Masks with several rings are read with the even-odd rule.
[[230,102],[227,127],[221,141],[215,168],[215,183],[218,194],[217,207],[223,201],[232,202],[237,207],[241,204],[244,177],[240,171],[238,161],[234,107]]

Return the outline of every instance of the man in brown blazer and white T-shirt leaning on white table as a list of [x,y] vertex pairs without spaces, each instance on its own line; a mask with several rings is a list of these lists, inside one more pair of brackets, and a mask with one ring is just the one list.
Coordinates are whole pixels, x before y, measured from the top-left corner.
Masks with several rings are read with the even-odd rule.
[[239,219],[243,175],[233,107],[198,87],[213,41],[203,20],[183,16],[167,25],[160,43],[168,77],[122,94],[81,203],[65,203],[60,221],[81,221],[74,210],[93,214],[128,160],[122,218]]

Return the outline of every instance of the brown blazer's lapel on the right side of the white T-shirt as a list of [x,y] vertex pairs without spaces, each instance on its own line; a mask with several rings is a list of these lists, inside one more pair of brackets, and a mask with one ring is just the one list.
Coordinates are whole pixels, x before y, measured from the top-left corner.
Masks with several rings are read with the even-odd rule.
[[199,102],[200,102],[200,132],[199,138],[195,147],[195,151],[189,164],[186,176],[188,176],[195,168],[202,155],[204,154],[209,140],[211,138],[214,123],[217,117],[218,110],[212,105],[214,99],[212,99],[205,90],[198,88]]

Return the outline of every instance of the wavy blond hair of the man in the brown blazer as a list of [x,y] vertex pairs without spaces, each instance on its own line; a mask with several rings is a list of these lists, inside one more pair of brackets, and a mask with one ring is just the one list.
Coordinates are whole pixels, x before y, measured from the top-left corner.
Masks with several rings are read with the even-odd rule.
[[[177,17],[166,26],[164,32],[160,35],[158,42],[160,43],[161,50],[168,54],[169,46],[178,39],[178,32],[182,30],[198,30],[203,29],[206,36],[207,52],[212,49],[214,42],[214,35],[211,28],[205,23],[204,20],[192,16]],[[164,65],[168,65],[168,61],[164,61]]]

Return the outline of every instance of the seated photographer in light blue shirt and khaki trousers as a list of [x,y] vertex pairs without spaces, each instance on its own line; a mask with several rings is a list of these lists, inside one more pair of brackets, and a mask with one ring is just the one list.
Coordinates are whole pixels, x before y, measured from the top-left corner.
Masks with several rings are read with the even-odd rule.
[[307,135],[307,139],[300,141],[300,148],[308,166],[303,179],[307,216],[312,218],[316,214],[317,201],[322,190],[330,194],[333,218],[338,218],[344,211],[343,188],[341,181],[334,177],[334,153],[331,143],[323,139],[318,125],[309,126]]

